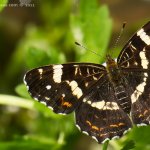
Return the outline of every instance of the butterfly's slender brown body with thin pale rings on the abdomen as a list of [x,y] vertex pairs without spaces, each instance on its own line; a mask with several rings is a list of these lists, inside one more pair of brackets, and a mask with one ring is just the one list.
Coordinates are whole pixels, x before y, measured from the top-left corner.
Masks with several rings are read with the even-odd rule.
[[125,112],[130,113],[131,99],[128,96],[130,93],[127,93],[126,90],[128,83],[125,80],[127,75],[123,73],[117,62],[115,62],[110,55],[106,56],[106,60],[107,76],[110,82],[110,87],[114,91],[116,102]]

